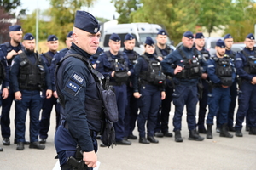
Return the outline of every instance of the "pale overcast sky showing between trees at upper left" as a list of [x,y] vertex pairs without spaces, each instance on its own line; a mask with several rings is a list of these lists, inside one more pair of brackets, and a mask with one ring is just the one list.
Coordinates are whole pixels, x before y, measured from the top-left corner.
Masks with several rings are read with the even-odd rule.
[[[39,6],[41,10],[49,8],[49,0],[21,0],[20,2],[21,8],[27,8],[27,14],[31,14],[37,6]],[[92,8],[84,8],[84,10],[96,17],[102,17],[108,20],[113,19],[113,15],[115,15],[115,18],[119,16],[119,14],[115,12],[114,4],[110,3],[110,0],[97,0]]]

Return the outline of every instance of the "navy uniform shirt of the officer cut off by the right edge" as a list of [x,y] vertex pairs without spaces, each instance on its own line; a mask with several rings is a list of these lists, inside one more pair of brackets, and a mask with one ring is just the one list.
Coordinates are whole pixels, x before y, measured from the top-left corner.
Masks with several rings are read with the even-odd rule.
[[[244,51],[251,56],[256,55],[254,50],[250,50],[248,48],[244,48]],[[253,77],[256,75],[254,74],[248,74],[247,71],[244,70],[244,67],[248,65],[247,57],[242,54],[242,52],[239,52],[236,54],[235,59],[235,67],[236,67],[236,74],[239,75],[239,77],[246,79],[247,81],[251,82]]]

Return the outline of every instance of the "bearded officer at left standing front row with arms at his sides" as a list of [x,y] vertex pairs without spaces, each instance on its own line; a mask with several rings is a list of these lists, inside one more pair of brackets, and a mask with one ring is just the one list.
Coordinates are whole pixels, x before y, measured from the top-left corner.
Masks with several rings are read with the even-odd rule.
[[46,88],[46,97],[52,91],[49,73],[43,59],[34,53],[35,39],[27,33],[22,42],[25,52],[18,54],[11,65],[10,80],[15,93],[17,150],[24,150],[26,111],[30,111],[29,148],[44,149],[38,143],[39,113],[41,110],[40,91]]

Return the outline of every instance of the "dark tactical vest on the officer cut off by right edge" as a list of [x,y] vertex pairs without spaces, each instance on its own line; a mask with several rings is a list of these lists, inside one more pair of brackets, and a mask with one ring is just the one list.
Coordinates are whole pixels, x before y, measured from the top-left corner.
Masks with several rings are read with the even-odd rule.
[[247,58],[247,65],[244,65],[244,71],[247,71],[248,74],[256,74],[256,53],[254,55],[249,55],[243,49],[241,54]]

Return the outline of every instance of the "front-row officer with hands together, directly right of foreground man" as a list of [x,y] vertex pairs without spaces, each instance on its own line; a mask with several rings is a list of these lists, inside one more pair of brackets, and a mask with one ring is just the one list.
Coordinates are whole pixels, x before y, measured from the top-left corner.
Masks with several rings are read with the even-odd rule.
[[119,51],[121,38],[113,33],[108,42],[109,51],[104,52],[96,61],[96,70],[104,77],[110,77],[109,85],[113,86],[119,111],[119,121],[114,123],[116,144],[131,145],[125,137],[125,108],[127,101],[126,82],[133,72],[132,65],[125,53]]

